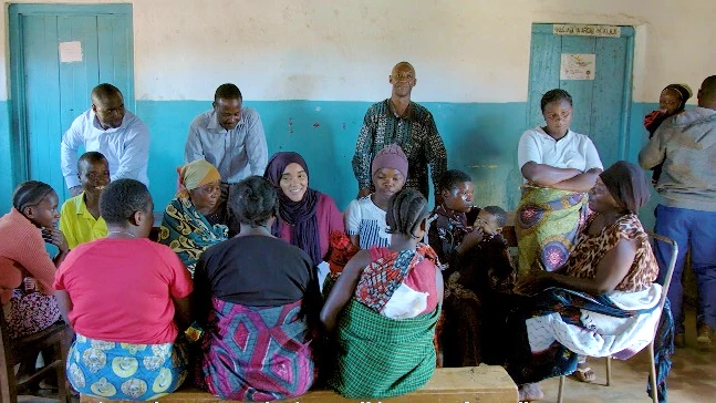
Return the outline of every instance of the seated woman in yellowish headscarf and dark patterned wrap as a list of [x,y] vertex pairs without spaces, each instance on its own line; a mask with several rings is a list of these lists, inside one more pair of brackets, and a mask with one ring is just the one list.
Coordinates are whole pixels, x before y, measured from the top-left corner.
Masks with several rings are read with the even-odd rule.
[[205,159],[177,168],[179,192],[164,210],[159,242],[172,248],[194,276],[203,251],[228,237],[224,208],[219,206],[221,176]]

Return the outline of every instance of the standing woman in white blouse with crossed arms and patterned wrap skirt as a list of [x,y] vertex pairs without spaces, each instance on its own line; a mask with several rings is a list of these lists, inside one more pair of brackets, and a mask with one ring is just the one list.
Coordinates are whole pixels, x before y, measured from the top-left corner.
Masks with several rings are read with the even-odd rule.
[[603,169],[592,141],[570,130],[567,91],[548,91],[541,108],[547,125],[525,132],[517,149],[525,177],[515,225],[522,272],[535,265],[552,271],[567,261],[587,213],[587,193]]

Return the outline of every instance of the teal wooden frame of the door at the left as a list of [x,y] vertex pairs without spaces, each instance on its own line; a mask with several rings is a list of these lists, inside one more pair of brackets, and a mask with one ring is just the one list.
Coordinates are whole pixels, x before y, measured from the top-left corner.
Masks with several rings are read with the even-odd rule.
[[[129,43],[133,51],[129,52],[128,75],[134,85],[134,25],[132,18],[132,4],[10,4],[8,11],[8,32],[10,39],[10,159],[11,178],[13,187],[30,179],[28,133],[27,133],[27,105],[25,105],[25,81],[22,41],[22,17],[23,16],[125,16],[129,27]],[[134,91],[131,97],[125,97],[127,108],[134,111]],[[58,162],[59,163],[59,162]]]

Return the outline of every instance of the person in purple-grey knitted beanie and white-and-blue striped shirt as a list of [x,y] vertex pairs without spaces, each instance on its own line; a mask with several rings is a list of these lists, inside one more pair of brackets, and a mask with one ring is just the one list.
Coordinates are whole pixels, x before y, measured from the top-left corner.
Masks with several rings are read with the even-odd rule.
[[391,245],[391,235],[385,224],[387,202],[401,192],[407,177],[407,157],[396,144],[381,149],[372,165],[375,192],[351,202],[345,210],[345,230],[351,242],[361,248]]

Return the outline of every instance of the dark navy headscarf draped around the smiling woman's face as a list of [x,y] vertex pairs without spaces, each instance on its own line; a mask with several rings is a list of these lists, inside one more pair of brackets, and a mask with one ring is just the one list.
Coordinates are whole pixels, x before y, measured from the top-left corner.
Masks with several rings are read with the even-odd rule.
[[[279,215],[281,219],[292,226],[291,245],[297,246],[307,254],[314,265],[323,260],[321,256],[321,241],[319,239],[319,221],[315,217],[320,193],[307,188],[303,198],[299,202],[291,200],[281,189],[281,176],[290,164],[299,164],[305,170],[310,179],[309,167],[301,155],[293,152],[276,153],[269,159],[263,177],[271,180],[276,193],[279,195]],[[276,220],[272,232],[279,236],[281,231],[280,220]]]

